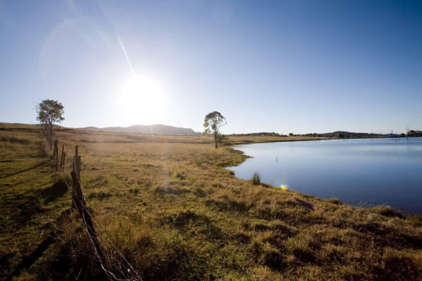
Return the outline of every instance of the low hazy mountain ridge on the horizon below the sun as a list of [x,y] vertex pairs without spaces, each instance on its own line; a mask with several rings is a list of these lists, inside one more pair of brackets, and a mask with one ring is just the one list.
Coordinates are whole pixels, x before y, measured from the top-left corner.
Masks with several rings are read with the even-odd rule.
[[110,131],[110,132],[123,132],[123,133],[142,133],[142,134],[188,134],[188,135],[197,135],[199,133],[195,132],[190,128],[181,128],[173,127],[168,125],[133,125],[129,127],[84,127],[81,129],[94,129],[101,131]]

